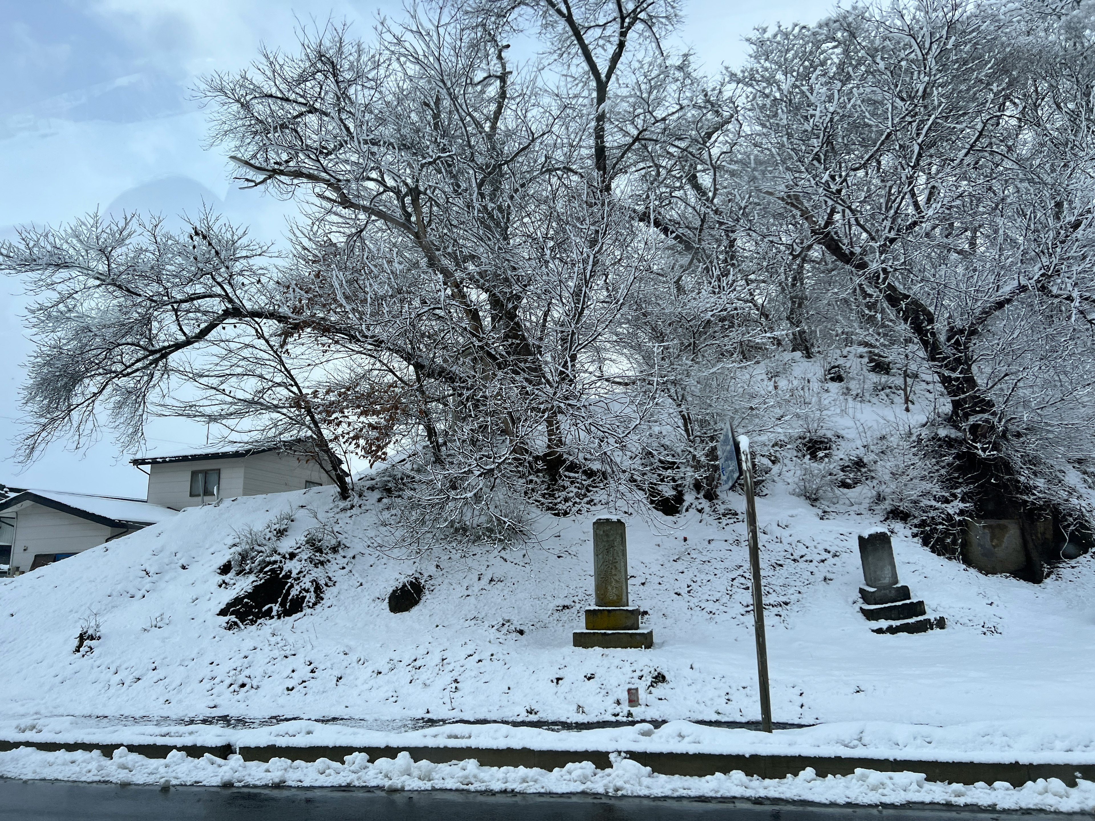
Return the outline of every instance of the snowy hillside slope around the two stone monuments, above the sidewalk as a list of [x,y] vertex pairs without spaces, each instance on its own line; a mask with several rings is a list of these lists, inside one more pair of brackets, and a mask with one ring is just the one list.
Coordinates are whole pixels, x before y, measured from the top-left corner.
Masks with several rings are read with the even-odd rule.
[[[378,726],[757,719],[740,516],[625,516],[632,603],[646,611],[655,646],[584,650],[570,633],[592,603],[597,514],[545,516],[539,539],[516,552],[399,559],[370,535],[391,499],[366,502],[339,512],[331,488],[226,500],[0,580],[0,713]],[[740,511],[739,496],[731,504]],[[1091,555],[1033,586],[979,575],[898,532],[902,582],[947,628],[880,636],[857,610],[855,541],[877,522],[819,516],[774,479],[758,510],[777,722],[1095,717]],[[326,567],[334,585],[314,609],[227,629],[217,613],[244,583],[219,571],[230,546],[286,512],[287,543],[318,520],[337,534],[343,547]],[[422,602],[390,612],[389,594],[413,577]],[[101,638],[74,652],[95,621]],[[620,706],[627,686],[642,689],[631,713]]]

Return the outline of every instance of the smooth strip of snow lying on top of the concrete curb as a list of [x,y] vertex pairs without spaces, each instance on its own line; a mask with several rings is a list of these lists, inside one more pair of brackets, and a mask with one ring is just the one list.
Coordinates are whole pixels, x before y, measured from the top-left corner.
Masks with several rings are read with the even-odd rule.
[[48,717],[0,722],[0,739],[35,743],[177,747],[279,747],[804,755],[898,761],[1095,764],[1095,722],[979,721],[947,727],[889,721],[837,721],[763,733],[672,720],[596,729],[543,729],[506,724],[446,724],[415,730],[370,729],[365,721],[296,719],[261,727],[122,724],[116,718]]

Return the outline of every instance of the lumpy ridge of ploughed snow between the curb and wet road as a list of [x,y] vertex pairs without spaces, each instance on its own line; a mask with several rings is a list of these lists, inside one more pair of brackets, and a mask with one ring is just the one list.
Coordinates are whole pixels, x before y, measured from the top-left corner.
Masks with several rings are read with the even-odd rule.
[[612,756],[612,766],[572,763],[551,772],[534,767],[481,766],[474,759],[434,764],[415,761],[407,752],[370,762],[353,753],[339,763],[274,759],[246,762],[206,754],[189,758],[174,751],[166,759],[146,759],[120,748],[107,759],[99,752],[46,753],[28,748],[0,752],[0,772],[14,778],[54,778],[115,784],[206,786],[383,787],[387,790],[465,789],[505,793],[592,793],[621,796],[678,796],[724,798],[777,798],[818,803],[896,805],[910,801],[991,807],[998,810],[1095,810],[1095,783],[1080,780],[1069,787],[1057,778],[1038,779],[1014,788],[993,785],[935,784],[921,773],[881,773],[856,770],[854,775],[819,778],[812,768],[797,776],[760,778],[739,771],[711,776],[673,776],[652,773],[624,755]]

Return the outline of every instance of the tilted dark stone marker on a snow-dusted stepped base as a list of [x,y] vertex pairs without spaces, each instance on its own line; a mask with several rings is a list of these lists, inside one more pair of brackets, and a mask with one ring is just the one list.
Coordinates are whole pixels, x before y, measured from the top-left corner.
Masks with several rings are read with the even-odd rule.
[[874,633],[926,633],[943,629],[943,616],[927,618],[923,601],[912,601],[908,585],[898,585],[897,564],[894,562],[894,543],[885,530],[860,534],[860,562],[863,580],[860,588],[864,606],[860,612],[869,622],[890,622],[873,627]]

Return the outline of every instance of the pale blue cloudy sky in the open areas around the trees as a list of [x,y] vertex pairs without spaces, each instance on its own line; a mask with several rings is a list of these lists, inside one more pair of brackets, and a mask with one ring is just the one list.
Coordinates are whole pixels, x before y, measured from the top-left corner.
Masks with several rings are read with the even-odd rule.
[[[826,0],[685,0],[682,36],[715,69],[745,56],[754,26],[814,22]],[[96,208],[177,213],[205,200],[255,232],[276,235],[281,204],[229,184],[223,158],[201,148],[195,78],[245,66],[260,43],[291,46],[297,21],[354,21],[367,36],[402,0],[0,0],[0,238]],[[0,482],[18,487],[143,498],[145,476],[108,431],[84,453],[54,447],[23,469],[18,437],[21,362],[30,351],[20,284],[0,280]],[[149,451],[200,446],[205,429],[150,427]]]

